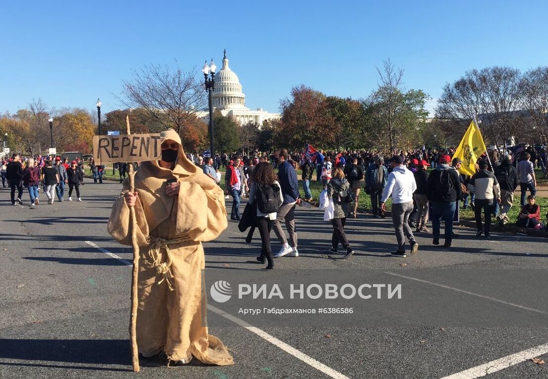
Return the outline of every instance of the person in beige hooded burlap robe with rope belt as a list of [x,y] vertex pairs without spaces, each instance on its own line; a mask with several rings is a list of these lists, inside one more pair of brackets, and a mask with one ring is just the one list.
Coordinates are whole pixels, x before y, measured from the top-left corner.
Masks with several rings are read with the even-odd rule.
[[[152,357],[163,351],[180,364],[194,356],[206,364],[231,365],[226,347],[208,335],[202,314],[202,242],[215,239],[227,227],[224,194],[186,158],[173,129],[163,131],[161,141],[162,160],[142,162],[135,173],[134,194],[124,181],[107,226],[119,243],[131,245],[128,204],[134,204],[140,246],[139,352]],[[173,182],[167,183],[170,179]]]

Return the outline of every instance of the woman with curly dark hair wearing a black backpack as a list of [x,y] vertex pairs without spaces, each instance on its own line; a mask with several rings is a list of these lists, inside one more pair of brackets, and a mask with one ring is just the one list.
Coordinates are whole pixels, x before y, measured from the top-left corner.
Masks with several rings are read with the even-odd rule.
[[270,231],[276,220],[277,211],[283,203],[282,190],[276,180],[272,165],[261,162],[255,166],[253,184],[249,191],[249,204],[256,204],[255,222],[261,235],[261,254],[257,260],[269,262],[266,268],[274,268],[272,248],[270,246]]

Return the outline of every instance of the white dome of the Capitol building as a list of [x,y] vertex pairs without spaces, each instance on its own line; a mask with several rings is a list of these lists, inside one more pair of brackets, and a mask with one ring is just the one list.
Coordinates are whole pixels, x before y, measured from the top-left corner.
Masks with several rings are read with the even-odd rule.
[[242,85],[238,76],[229,67],[229,59],[222,58],[222,68],[215,73],[215,89],[213,90],[213,106],[215,108],[245,108],[246,95],[242,92]]

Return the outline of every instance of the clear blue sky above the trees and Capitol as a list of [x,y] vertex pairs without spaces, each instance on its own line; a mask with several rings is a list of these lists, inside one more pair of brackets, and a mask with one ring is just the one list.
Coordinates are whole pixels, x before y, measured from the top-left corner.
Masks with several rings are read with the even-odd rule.
[[[391,58],[434,99],[466,70],[548,65],[545,1],[9,1],[0,32],[0,112],[122,107],[113,94],[147,64],[189,71],[227,49],[249,108],[290,88],[367,97]],[[429,104],[432,108],[434,101]]]

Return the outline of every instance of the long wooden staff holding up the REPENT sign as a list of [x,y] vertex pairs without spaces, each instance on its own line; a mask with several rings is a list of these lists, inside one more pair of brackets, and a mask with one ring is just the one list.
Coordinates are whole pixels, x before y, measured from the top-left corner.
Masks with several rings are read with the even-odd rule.
[[[125,116],[125,127],[127,134],[131,134],[129,130],[129,116]],[[129,191],[135,192],[135,172],[133,171],[133,163],[129,163]],[[139,372],[139,349],[137,347],[137,306],[138,306],[138,294],[137,294],[137,275],[139,273],[139,245],[137,244],[137,219],[135,217],[135,208],[129,207],[129,223],[132,231],[132,244],[133,244],[133,273],[132,273],[132,313],[129,320],[129,340],[132,344],[132,361],[133,371]]]

